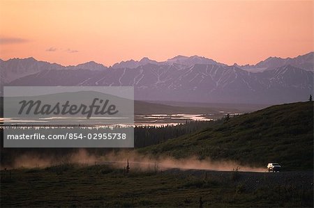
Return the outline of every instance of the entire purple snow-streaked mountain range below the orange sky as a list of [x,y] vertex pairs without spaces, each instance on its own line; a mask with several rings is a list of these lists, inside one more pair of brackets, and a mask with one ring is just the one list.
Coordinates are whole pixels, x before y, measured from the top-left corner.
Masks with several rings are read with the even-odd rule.
[[305,101],[313,94],[314,53],[270,57],[256,65],[218,63],[200,56],[149,58],[105,67],[13,58],[0,61],[1,86],[134,86],[135,99],[264,103]]

